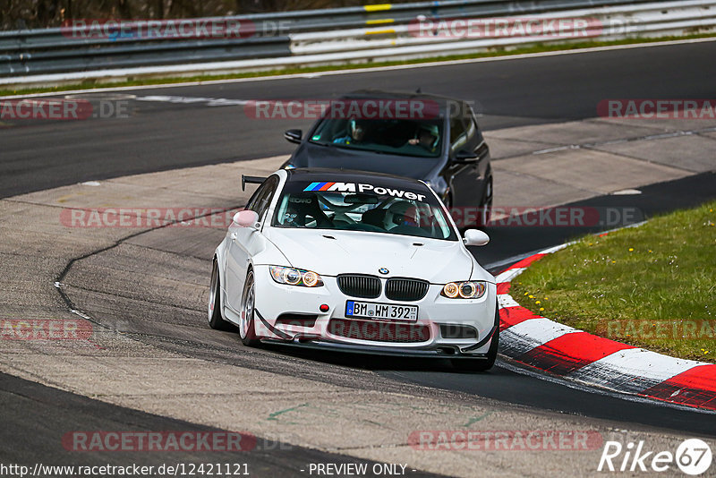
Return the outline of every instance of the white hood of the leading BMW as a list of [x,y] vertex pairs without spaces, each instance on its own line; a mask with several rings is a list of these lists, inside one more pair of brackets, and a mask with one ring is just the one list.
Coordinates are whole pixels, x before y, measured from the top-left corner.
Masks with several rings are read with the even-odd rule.
[[325,276],[379,276],[378,269],[386,268],[386,277],[445,284],[467,280],[473,272],[473,257],[458,241],[330,229],[270,227],[264,233],[291,266]]

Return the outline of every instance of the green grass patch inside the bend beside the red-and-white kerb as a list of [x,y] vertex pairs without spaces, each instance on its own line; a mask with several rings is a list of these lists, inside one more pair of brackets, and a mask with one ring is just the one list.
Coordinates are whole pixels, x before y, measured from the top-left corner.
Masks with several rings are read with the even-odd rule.
[[655,352],[716,362],[716,201],[589,235],[516,277],[552,320]]

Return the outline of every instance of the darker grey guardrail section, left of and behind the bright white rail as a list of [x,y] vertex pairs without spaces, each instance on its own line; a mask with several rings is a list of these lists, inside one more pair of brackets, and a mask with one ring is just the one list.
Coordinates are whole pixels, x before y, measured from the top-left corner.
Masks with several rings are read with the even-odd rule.
[[[196,41],[142,37],[136,28],[130,28],[127,33],[132,36],[125,38],[68,38],[68,33],[83,31],[61,28],[3,31],[0,32],[0,76],[291,55],[288,34],[405,24],[419,14],[430,18],[504,16],[628,3],[627,0],[447,0],[259,13],[203,19],[252,24],[253,38]],[[271,34],[277,31],[281,35]],[[84,33],[91,34],[91,29]]]

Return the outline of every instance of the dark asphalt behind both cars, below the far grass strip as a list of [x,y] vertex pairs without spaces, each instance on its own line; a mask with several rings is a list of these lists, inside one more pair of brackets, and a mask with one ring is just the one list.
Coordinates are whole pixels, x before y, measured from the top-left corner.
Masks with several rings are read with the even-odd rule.
[[[608,98],[712,98],[716,42],[315,78],[133,90],[137,96],[336,98],[416,90],[473,101],[484,130],[591,118]],[[284,130],[311,121],[250,120],[242,107],[132,102],[129,119],[25,121],[0,128],[0,197],[65,184],[288,154]]]

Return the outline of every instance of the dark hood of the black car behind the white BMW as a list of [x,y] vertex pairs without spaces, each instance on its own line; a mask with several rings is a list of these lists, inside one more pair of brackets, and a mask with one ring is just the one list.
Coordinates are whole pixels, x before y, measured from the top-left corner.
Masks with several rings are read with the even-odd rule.
[[371,151],[320,146],[309,142],[296,149],[289,160],[296,167],[328,167],[331,169],[354,169],[413,179],[428,179],[433,170],[439,169],[440,158],[418,158],[382,154]]

